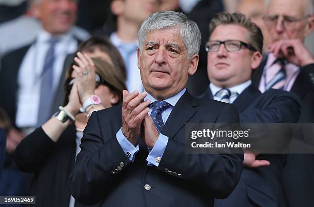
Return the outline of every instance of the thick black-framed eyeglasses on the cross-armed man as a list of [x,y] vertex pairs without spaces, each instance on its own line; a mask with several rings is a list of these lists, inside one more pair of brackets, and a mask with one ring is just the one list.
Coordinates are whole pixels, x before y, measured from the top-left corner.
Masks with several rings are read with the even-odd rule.
[[226,40],[226,41],[208,41],[205,45],[206,52],[217,52],[220,45],[223,44],[228,52],[238,51],[242,46],[249,50],[257,51],[253,46],[240,40]]

